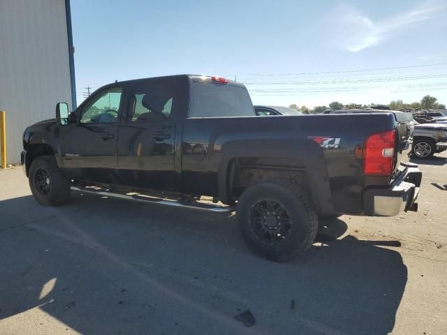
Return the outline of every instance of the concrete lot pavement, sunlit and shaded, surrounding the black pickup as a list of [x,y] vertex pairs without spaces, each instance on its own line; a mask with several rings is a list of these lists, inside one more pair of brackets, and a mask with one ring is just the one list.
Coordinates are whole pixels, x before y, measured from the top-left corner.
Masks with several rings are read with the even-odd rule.
[[251,253],[232,217],[42,207],[0,170],[0,334],[447,334],[447,155],[417,163],[418,213],[321,221],[286,263]]

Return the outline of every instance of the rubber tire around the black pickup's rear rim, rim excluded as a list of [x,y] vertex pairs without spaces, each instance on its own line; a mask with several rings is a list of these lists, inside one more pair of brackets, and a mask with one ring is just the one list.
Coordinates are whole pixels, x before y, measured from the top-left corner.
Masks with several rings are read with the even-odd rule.
[[[251,211],[264,201],[272,201],[286,209],[291,228],[284,241],[265,241],[254,230]],[[318,216],[309,195],[288,179],[259,181],[249,186],[237,203],[236,217],[247,246],[261,257],[279,262],[304,253],[314,242],[318,230]]]

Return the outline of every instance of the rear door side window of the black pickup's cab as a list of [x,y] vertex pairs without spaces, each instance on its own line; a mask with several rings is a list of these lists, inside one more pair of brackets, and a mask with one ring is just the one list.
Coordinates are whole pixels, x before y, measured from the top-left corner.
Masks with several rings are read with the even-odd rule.
[[145,84],[132,90],[128,121],[164,122],[173,109],[170,87]]

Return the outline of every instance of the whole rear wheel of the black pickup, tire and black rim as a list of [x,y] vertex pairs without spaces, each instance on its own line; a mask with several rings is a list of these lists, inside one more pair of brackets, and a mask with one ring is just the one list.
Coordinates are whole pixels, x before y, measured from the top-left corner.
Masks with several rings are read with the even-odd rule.
[[315,240],[318,216],[293,181],[260,181],[242,193],[237,223],[245,242],[264,258],[284,261],[304,253]]

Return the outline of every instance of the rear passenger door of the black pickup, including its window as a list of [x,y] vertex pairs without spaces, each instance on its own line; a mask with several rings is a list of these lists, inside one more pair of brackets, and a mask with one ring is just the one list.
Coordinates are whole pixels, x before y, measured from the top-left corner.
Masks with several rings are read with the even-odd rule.
[[119,126],[118,169],[122,184],[175,191],[175,110],[182,103],[169,80],[129,87]]

